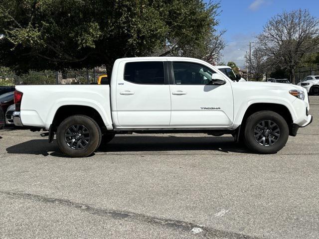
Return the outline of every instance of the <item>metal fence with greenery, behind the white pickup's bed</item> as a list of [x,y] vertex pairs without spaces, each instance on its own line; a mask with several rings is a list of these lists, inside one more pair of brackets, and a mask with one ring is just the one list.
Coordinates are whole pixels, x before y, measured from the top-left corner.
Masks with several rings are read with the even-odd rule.
[[62,71],[29,71],[22,75],[0,76],[0,86],[97,84],[106,70],[81,69]]

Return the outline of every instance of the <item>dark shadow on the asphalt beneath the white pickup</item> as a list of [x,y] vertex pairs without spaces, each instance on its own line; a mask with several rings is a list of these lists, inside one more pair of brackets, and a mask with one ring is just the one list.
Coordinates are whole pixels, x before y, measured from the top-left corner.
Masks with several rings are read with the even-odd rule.
[[[176,136],[116,136],[97,152],[147,152],[147,151],[200,151],[214,150],[220,152],[251,153],[245,147],[234,142],[233,137],[176,137]],[[56,142],[48,143],[47,139],[33,139],[6,148],[7,153],[34,155],[52,155],[65,157]]]

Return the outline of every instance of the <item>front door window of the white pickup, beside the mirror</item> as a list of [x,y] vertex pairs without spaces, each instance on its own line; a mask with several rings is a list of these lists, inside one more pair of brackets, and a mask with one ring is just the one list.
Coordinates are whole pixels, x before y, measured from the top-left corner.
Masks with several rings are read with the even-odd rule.
[[173,62],[176,85],[207,85],[214,71],[206,66],[190,62]]

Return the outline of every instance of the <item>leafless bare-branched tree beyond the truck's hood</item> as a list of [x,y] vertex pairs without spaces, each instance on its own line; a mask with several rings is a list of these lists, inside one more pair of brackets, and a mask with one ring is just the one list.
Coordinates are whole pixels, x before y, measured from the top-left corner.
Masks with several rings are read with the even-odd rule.
[[257,37],[264,56],[288,70],[295,84],[295,69],[303,56],[319,45],[319,19],[308,10],[284,11],[272,17]]

